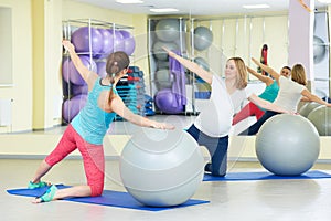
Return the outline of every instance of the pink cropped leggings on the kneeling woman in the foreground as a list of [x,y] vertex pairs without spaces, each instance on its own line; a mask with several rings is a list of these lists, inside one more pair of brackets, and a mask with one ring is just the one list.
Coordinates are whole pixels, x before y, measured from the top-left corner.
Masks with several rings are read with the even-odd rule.
[[45,161],[53,167],[68,154],[78,148],[84,162],[87,185],[90,187],[90,196],[100,196],[104,190],[105,157],[103,145],[93,145],[85,141],[68,125],[56,148],[46,157]]

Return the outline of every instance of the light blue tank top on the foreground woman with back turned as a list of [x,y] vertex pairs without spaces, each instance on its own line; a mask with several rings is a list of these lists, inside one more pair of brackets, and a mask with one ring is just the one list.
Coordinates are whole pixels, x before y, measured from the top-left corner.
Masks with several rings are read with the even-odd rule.
[[[116,116],[116,113],[104,112],[97,104],[99,94],[111,88],[110,85],[102,85],[100,81],[100,77],[95,81],[93,90],[88,93],[86,105],[71,123],[85,141],[94,145],[103,144],[109,124]],[[117,94],[117,91],[114,90],[114,93]]]

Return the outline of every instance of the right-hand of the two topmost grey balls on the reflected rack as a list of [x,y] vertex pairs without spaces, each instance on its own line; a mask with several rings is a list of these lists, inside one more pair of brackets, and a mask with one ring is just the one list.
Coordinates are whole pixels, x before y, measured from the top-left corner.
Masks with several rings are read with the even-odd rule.
[[213,42],[213,32],[206,27],[196,27],[193,40],[194,49],[199,51],[206,50]]

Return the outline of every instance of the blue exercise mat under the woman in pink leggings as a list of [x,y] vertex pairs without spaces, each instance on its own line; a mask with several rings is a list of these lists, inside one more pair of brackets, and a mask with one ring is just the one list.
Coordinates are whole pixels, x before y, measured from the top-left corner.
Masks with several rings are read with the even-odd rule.
[[[56,185],[58,189],[68,188],[70,186],[64,185]],[[40,197],[45,191],[45,188],[40,189],[11,189],[7,190],[10,194],[17,194],[17,196],[24,196],[24,197]],[[202,203],[209,203],[210,201],[205,200],[195,200],[190,199],[185,203],[175,206],[175,207],[146,207],[141,203],[139,203],[137,200],[135,200],[128,192],[119,192],[119,191],[113,191],[113,190],[104,190],[103,196],[100,197],[83,197],[83,198],[71,198],[71,199],[64,199],[67,201],[73,202],[82,202],[82,203],[92,203],[92,204],[102,204],[102,206],[108,206],[108,207],[118,207],[118,208],[127,208],[127,209],[136,209],[136,210],[148,210],[148,211],[163,211],[174,208],[182,208],[182,207],[189,207],[189,206],[195,206],[195,204],[202,204]]]

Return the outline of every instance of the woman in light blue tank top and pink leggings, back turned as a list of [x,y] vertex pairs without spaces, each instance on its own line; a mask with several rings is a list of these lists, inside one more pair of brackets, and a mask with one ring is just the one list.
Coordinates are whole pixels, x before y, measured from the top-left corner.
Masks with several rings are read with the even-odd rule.
[[57,189],[55,185],[51,185],[44,194],[34,199],[34,203],[68,197],[96,197],[103,193],[105,178],[103,139],[116,114],[142,127],[174,129],[172,125],[136,115],[125,106],[116,91],[117,82],[128,72],[130,63],[125,52],[115,52],[108,56],[107,76],[100,78],[97,73],[84,66],[71,42],[63,41],[63,46],[68,51],[75,67],[88,85],[88,99],[67,126],[56,148],[41,162],[28,188],[47,186],[41,178],[75,149],[82,154],[87,185],[65,189]]

